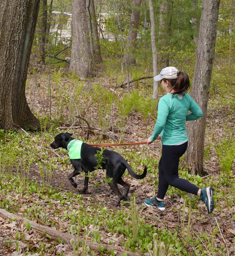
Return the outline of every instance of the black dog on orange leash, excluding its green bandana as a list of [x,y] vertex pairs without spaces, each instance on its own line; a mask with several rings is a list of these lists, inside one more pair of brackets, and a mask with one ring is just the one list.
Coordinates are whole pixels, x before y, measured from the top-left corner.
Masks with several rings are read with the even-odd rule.
[[[75,140],[71,137],[72,133],[60,133],[55,137],[55,141],[51,143],[51,148],[65,148],[71,140]],[[72,143],[72,142],[71,142]],[[71,144],[70,143],[70,144]],[[100,148],[95,148],[89,144],[81,144],[81,159],[70,159],[71,164],[74,167],[74,171],[69,174],[68,179],[70,183],[76,188],[77,184],[72,177],[75,177],[80,172],[88,171],[92,172],[97,166],[97,158],[95,154],[97,151],[101,151]],[[136,179],[143,179],[147,174],[147,167],[144,167],[144,172],[141,175],[138,175],[133,172],[130,165],[126,160],[118,153],[111,150],[103,151],[103,159],[100,163],[102,168],[106,170],[106,178],[112,178],[112,181],[109,183],[110,188],[118,195],[120,203],[121,200],[126,200],[127,194],[129,192],[130,185],[122,180],[122,175],[125,172],[125,169],[129,171],[130,175]],[[125,188],[125,193],[122,195],[118,189],[117,183],[122,185]],[[84,188],[79,190],[80,193],[85,193],[88,187],[88,177],[85,176]]]

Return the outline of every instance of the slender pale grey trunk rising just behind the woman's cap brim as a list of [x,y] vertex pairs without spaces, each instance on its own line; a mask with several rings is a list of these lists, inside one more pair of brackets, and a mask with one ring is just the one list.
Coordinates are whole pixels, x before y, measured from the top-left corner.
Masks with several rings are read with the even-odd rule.
[[[157,68],[157,47],[155,41],[155,22],[154,22],[154,8],[152,0],[149,0],[149,14],[150,14],[150,23],[151,23],[151,47],[152,47],[152,55],[153,55],[153,71],[154,77],[158,74]],[[154,91],[153,98],[158,100],[158,82],[154,80]]]

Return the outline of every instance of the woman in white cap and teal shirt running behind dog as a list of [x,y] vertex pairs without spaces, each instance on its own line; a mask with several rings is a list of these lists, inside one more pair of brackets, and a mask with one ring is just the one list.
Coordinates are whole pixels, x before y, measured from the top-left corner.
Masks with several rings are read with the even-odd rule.
[[[189,87],[188,74],[175,67],[163,68],[159,75],[154,77],[160,81],[163,90],[167,93],[160,98],[158,117],[151,137],[147,143],[152,143],[159,134],[162,141],[162,156],[159,161],[158,194],[153,199],[145,199],[147,206],[165,209],[164,196],[171,185],[188,193],[198,195],[206,204],[208,213],[214,209],[213,189],[198,188],[188,180],[179,178],[179,158],[185,153],[188,146],[186,121],[202,117],[202,110],[185,91]],[[188,110],[191,113],[188,113]]]

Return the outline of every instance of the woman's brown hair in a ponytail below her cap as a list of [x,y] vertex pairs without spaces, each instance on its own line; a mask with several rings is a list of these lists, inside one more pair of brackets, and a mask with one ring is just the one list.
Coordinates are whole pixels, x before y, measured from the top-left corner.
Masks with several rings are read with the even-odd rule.
[[174,89],[174,94],[185,94],[185,91],[189,88],[190,82],[189,82],[189,77],[188,74],[182,71],[179,71],[177,73],[177,78],[175,79],[166,79],[163,78],[164,82],[169,81],[172,89]]

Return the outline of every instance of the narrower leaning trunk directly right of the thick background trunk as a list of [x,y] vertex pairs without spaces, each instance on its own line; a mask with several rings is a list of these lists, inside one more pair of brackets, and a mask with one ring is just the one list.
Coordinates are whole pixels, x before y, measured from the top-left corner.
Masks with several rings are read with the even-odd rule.
[[94,0],[90,0],[90,11],[91,11],[91,22],[92,22],[92,37],[95,49],[95,62],[100,63],[103,62],[100,52],[100,41],[99,41],[99,33],[98,33],[98,24],[95,15],[95,4]]

